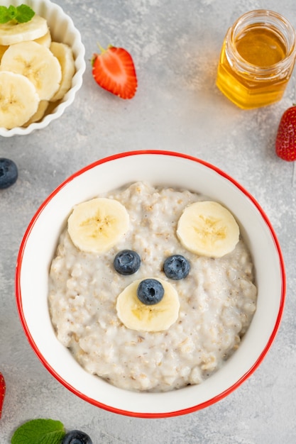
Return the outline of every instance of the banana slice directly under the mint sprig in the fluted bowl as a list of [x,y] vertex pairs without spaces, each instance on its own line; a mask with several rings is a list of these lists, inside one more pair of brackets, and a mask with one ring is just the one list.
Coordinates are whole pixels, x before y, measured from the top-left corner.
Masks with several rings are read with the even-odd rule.
[[36,14],[26,23],[16,23],[13,20],[0,23],[0,45],[14,45],[14,43],[35,40],[47,32],[47,21]]

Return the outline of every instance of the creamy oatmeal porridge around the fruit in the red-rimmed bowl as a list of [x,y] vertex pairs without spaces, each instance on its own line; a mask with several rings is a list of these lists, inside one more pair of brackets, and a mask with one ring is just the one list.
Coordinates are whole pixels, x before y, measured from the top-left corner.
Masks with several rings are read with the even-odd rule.
[[[104,252],[84,251],[75,246],[68,228],[62,231],[48,295],[57,338],[87,372],[123,389],[165,392],[200,384],[239,347],[256,311],[257,290],[246,244],[239,236],[234,249],[221,257],[183,246],[178,222],[189,206],[207,201],[199,194],[137,182],[99,197],[118,201],[128,219],[122,213],[120,226],[125,229]],[[114,257],[126,249],[141,258],[132,274],[114,268]],[[164,272],[165,260],[172,255],[181,255],[190,264],[181,279]],[[159,304],[164,304],[163,313],[175,310],[175,317],[165,324],[165,315],[155,304],[143,329],[141,323],[126,326],[126,318],[141,316],[132,313],[129,304],[119,312],[119,295],[129,295],[135,282],[147,278],[163,282],[165,294],[168,289],[173,295],[163,296]],[[158,310],[157,321],[153,310]],[[119,316],[122,311],[124,316]],[[153,319],[161,324],[159,331]]]

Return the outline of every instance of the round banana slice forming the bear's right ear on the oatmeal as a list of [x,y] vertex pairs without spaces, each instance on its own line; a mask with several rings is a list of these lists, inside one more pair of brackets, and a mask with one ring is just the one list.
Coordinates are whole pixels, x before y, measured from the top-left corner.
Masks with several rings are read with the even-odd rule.
[[187,206],[177,224],[180,243],[197,255],[221,257],[239,242],[239,226],[224,206],[200,201]]

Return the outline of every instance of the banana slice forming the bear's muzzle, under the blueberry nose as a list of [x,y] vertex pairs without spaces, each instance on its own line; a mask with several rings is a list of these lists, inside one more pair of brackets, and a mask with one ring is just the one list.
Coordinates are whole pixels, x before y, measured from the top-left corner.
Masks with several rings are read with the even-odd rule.
[[117,316],[126,328],[137,331],[164,331],[179,316],[180,301],[170,282],[156,278],[163,285],[165,294],[158,304],[145,305],[138,299],[137,289],[141,280],[133,281],[117,297]]

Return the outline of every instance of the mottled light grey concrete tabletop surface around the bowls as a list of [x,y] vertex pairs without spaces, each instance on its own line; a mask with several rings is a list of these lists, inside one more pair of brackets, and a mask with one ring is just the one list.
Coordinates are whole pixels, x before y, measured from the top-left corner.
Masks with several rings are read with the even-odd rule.
[[[296,27],[295,0],[58,0],[86,47],[87,71],[59,121],[28,136],[1,138],[0,156],[18,165],[0,193],[0,370],[7,393],[0,443],[31,418],[60,419],[95,444],[293,444],[296,442],[296,172],[275,155],[280,116],[295,100],[295,77],[280,103],[241,111],[215,87],[227,28],[245,11],[283,13]],[[92,79],[102,46],[133,55],[138,92],[122,101]],[[262,365],[233,394],[177,418],[119,416],[78,399],[45,370],[28,345],[14,296],[14,270],[31,217],[62,180],[106,155],[149,148],[185,152],[238,180],[263,206],[285,258],[287,298],[280,330]]]

